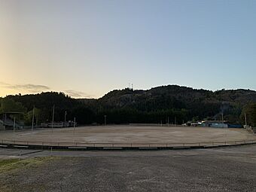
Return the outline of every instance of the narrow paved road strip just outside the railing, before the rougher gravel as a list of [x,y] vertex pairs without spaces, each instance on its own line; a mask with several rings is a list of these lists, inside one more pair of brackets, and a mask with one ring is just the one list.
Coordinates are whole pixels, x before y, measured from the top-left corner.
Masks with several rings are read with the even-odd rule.
[[243,145],[223,148],[163,150],[163,151],[41,151],[28,149],[0,148],[0,159],[4,158],[29,158],[29,157],[154,157],[154,156],[226,156],[226,157],[251,157],[256,158],[256,145]]

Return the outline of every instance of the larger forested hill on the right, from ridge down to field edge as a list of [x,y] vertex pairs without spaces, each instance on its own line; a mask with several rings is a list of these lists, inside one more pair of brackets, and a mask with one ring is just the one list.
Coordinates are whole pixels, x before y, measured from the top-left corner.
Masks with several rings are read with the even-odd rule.
[[[245,107],[256,102],[254,90],[196,90],[190,87],[168,85],[151,90],[113,90],[100,99],[81,99],[86,105],[94,105],[105,111],[130,115],[130,121],[166,122],[166,117],[178,123],[187,120],[220,120],[221,114],[232,123],[243,123]],[[123,113],[123,116],[120,115]],[[133,114],[137,115],[132,118]],[[145,115],[147,114],[147,115]],[[146,116],[146,117],[145,117]],[[127,117],[128,118],[128,117]],[[242,118],[242,119],[241,119]],[[136,119],[136,120],[135,120]]]

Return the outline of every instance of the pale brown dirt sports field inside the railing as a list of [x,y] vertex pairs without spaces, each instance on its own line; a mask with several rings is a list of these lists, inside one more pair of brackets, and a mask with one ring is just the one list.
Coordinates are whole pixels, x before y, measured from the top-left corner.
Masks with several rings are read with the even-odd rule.
[[176,126],[81,126],[0,132],[0,140],[87,143],[196,143],[254,140],[243,129]]

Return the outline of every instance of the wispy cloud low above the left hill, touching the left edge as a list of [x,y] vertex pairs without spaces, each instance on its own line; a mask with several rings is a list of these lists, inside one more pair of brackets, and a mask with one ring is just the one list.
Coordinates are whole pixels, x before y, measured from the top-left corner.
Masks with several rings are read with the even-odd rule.
[[50,90],[50,87],[41,84],[7,84],[5,82],[0,82],[0,87],[5,87],[11,90],[25,90],[32,93]]

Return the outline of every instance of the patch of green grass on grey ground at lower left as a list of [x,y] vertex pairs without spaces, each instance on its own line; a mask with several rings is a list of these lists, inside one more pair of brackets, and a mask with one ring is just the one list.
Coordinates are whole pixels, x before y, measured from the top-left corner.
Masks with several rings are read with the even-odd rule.
[[55,160],[57,157],[34,157],[29,159],[9,159],[0,160],[0,174],[10,172],[14,169],[27,169],[29,167],[36,167],[42,163]]

